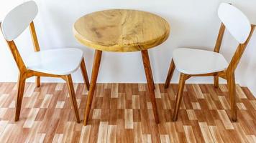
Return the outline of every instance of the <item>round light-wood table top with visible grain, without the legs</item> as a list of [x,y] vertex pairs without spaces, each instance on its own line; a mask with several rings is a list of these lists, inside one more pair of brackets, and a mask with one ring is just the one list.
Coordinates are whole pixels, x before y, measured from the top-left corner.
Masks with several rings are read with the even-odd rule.
[[101,51],[141,51],[162,44],[170,34],[165,19],[145,11],[112,9],[81,17],[73,26],[81,44]]

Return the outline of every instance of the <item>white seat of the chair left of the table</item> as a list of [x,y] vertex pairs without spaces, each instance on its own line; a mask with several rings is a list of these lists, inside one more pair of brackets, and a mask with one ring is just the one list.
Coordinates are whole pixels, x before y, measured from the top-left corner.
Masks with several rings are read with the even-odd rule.
[[80,49],[50,49],[37,51],[26,61],[27,69],[47,74],[67,75],[76,71],[83,58]]

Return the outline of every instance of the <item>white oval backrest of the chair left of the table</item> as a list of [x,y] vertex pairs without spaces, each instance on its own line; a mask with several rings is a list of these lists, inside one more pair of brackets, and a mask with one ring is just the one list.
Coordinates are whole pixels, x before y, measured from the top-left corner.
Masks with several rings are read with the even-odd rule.
[[12,41],[17,38],[22,32],[27,29],[29,24],[37,16],[37,4],[35,1],[27,1],[23,4],[9,11],[4,17],[1,29],[4,34],[4,38],[7,41]]

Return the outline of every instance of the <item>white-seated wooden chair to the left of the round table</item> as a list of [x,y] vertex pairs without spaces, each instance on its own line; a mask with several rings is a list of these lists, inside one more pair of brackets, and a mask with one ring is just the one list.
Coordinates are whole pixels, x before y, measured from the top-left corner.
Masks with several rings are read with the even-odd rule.
[[[76,102],[76,94],[73,89],[71,74],[80,66],[84,82],[86,82],[86,86],[89,88],[86,65],[83,59],[83,51],[73,48],[40,51],[33,23],[33,20],[37,15],[37,11],[38,9],[35,1],[27,1],[12,9],[12,11],[10,11],[0,23],[4,39],[6,39],[19,69],[15,121],[19,120],[25,81],[29,77],[36,76],[37,87],[40,87],[40,77],[60,77],[65,80],[68,84],[70,101],[73,104],[76,119],[79,123],[80,118],[78,105]],[[22,34],[28,26],[31,31],[36,52],[32,54],[27,63],[24,64],[22,56],[19,54],[17,46],[14,43],[14,39]]]

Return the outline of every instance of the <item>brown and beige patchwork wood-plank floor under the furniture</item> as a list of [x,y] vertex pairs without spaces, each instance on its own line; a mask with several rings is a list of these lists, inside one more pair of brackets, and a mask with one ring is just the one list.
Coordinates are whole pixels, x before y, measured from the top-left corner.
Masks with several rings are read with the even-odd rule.
[[[156,84],[155,124],[146,84],[97,84],[88,125],[76,123],[65,84],[26,84],[19,122],[16,85],[0,84],[0,142],[256,142],[256,100],[237,85],[237,122],[230,122],[227,86],[187,84],[177,122],[177,84]],[[88,93],[75,84],[80,116]]]

